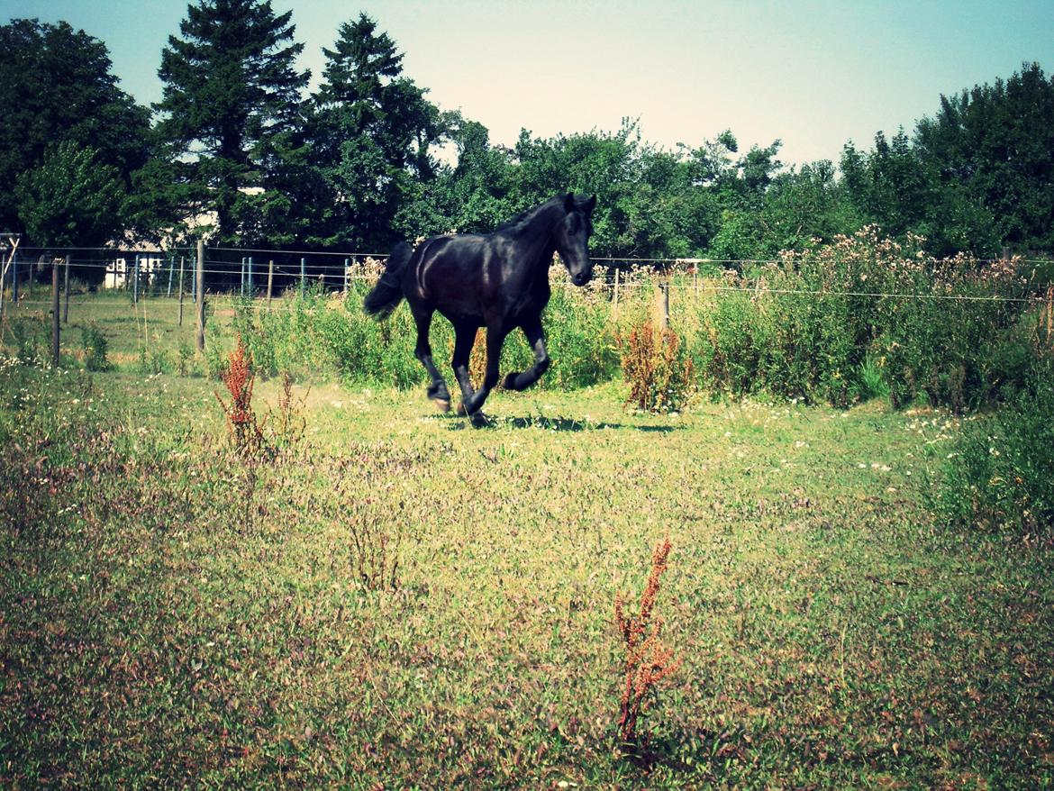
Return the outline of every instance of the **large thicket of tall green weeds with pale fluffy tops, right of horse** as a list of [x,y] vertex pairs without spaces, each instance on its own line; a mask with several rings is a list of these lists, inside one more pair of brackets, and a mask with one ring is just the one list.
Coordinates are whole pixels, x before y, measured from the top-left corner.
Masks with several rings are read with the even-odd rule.
[[956,411],[1012,392],[1032,356],[1015,265],[936,261],[920,242],[865,228],[750,278],[729,275],[697,308],[703,385],[837,407],[887,393],[897,407]]

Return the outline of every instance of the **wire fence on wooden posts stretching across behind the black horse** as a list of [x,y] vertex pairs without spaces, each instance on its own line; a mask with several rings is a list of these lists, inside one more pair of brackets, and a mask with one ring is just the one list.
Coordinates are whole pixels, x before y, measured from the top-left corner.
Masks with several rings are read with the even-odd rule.
[[[9,341],[18,329],[8,321],[16,312],[22,320],[47,321],[52,324],[52,349],[58,365],[60,310],[61,324],[69,323],[71,304],[74,315],[90,309],[87,315],[99,317],[100,310],[116,310],[120,314],[142,313],[143,325],[148,303],[157,304],[159,297],[178,300],[178,326],[184,323],[184,301],[188,324],[196,326],[197,347],[204,349],[206,306],[213,315],[230,316],[239,309],[251,306],[253,311],[300,310],[304,305],[296,297],[311,294],[318,296],[362,295],[363,282],[370,283],[382,274],[387,255],[360,252],[333,251],[277,251],[240,248],[200,248],[198,250],[114,250],[99,248],[42,249],[22,248],[12,256],[0,290],[9,297],[4,308],[0,302],[0,341]],[[793,264],[793,258],[774,259],[713,259],[713,258],[616,258],[592,256],[594,277],[584,288],[592,300],[607,300],[617,314],[620,306],[631,300],[639,304],[649,300],[643,292],[655,293],[655,308],[662,326],[670,322],[671,293],[677,301],[714,298],[718,294],[748,294],[757,300],[762,295],[795,295],[815,300],[894,300],[929,301],[957,304],[1003,303],[1014,311],[1026,310],[1029,305],[1042,306],[1047,324],[1054,325],[1054,289],[1046,279],[1020,283],[1013,291],[993,288],[990,293],[954,293],[935,287],[933,291],[891,291],[864,288],[807,288],[780,285],[780,278],[770,276],[770,265]],[[995,263],[1016,266],[1052,267],[1045,258],[1006,258],[975,261],[977,267]],[[559,270],[558,270],[559,272]],[[60,274],[61,273],[61,274]],[[61,281],[61,298],[60,298]],[[71,286],[71,282],[73,285]],[[204,304],[197,298],[198,283],[204,290]],[[550,277],[557,288],[572,287],[570,282],[557,274]],[[1041,284],[1041,285],[1040,285]],[[48,289],[50,285],[50,289]],[[50,294],[48,294],[50,290]],[[97,293],[126,294],[123,300],[98,298]],[[695,292],[694,296],[689,296]],[[294,298],[286,298],[292,296]],[[620,303],[620,300],[622,303]],[[172,301],[173,303],[175,300]],[[131,305],[129,304],[131,303]],[[312,306],[318,305],[313,302]],[[106,307],[103,307],[106,306]],[[193,307],[192,307],[193,306]],[[310,306],[309,306],[310,307]],[[163,321],[175,324],[176,307]],[[84,313],[82,313],[84,315]],[[154,317],[160,316],[154,313]],[[113,320],[106,320],[113,321]],[[116,321],[123,321],[117,315]],[[1051,330],[1048,329],[1048,336]]]

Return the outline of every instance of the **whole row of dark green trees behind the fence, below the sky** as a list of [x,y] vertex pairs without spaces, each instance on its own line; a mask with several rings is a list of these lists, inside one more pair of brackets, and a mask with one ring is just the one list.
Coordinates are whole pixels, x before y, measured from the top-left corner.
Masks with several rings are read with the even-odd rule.
[[0,230],[39,246],[134,237],[385,252],[488,231],[553,194],[598,195],[592,248],[612,257],[768,258],[877,224],[929,252],[1054,250],[1054,78],[1038,63],[939,98],[911,134],[785,167],[780,141],[726,131],[668,150],[612,132],[491,143],[403,72],[365,14],[339,25],[318,88],[292,12],[198,0],[169,37],[150,108],[103,42],[65,22],[0,27]]

